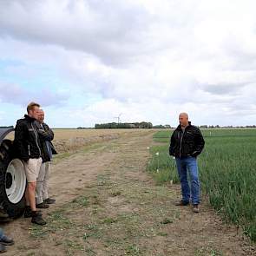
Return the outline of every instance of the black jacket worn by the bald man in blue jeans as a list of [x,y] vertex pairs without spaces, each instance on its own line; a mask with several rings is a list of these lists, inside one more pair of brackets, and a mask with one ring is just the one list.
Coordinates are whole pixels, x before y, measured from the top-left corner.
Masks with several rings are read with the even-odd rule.
[[205,145],[204,138],[200,132],[200,129],[189,125],[185,129],[184,133],[179,125],[171,137],[169,154],[175,157],[187,157],[199,155]]

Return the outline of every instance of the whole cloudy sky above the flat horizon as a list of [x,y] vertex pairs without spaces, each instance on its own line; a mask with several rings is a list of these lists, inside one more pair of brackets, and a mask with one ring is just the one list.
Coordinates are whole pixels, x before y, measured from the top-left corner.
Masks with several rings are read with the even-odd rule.
[[256,124],[256,3],[0,0],[0,126]]

